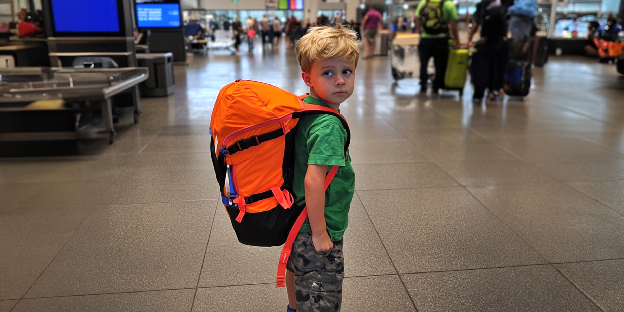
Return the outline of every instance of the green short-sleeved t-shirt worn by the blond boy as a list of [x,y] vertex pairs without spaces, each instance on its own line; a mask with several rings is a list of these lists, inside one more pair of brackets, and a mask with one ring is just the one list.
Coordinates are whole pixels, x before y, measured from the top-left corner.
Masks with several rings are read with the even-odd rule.
[[[311,95],[303,100],[307,104],[323,105]],[[325,223],[333,241],[343,238],[349,223],[349,207],[355,192],[355,172],[351,156],[344,159],[347,131],[338,117],[328,114],[305,115],[299,119],[295,134],[295,175],[293,192],[298,207],[305,205],[305,177],[308,165],[340,166],[336,176],[325,191]],[[328,167],[328,170],[329,170]],[[301,232],[312,232],[308,220]]]

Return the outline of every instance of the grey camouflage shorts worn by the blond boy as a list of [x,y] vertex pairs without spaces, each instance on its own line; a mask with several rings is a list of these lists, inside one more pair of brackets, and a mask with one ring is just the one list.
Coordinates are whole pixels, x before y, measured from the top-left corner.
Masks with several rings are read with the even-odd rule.
[[295,273],[297,312],[338,312],[342,303],[343,240],[320,253],[312,245],[312,233],[300,232],[286,265]]

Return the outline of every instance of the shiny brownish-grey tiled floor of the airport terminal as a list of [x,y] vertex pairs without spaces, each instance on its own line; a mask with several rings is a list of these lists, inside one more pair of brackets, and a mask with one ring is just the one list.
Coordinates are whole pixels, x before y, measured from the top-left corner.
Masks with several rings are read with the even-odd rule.
[[[235,79],[305,93],[296,57],[188,62],[114,144],[0,158],[0,312],[286,311],[281,249],[238,243],[217,199],[208,127]],[[388,57],[356,74],[342,311],[624,311],[613,65],[553,56],[524,100],[480,106],[393,85]]]

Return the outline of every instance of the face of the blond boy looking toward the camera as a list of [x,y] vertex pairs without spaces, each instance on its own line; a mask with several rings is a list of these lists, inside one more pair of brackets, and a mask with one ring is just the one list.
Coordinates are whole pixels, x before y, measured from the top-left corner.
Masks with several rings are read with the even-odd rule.
[[317,60],[309,73],[301,72],[301,77],[313,97],[338,106],[353,94],[355,62],[336,58]]

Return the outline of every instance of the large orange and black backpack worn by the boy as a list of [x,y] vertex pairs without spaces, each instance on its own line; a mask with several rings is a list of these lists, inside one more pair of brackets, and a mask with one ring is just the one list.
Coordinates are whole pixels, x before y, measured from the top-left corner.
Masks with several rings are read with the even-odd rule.
[[[338,112],[278,87],[236,80],[221,89],[210,119],[210,147],[223,205],[238,240],[251,246],[285,244],[278,266],[278,287],[284,285],[286,261],[301,225],[305,207],[293,207],[294,139],[304,114],[330,114],[347,130]],[[328,187],[338,167],[325,178]]]

